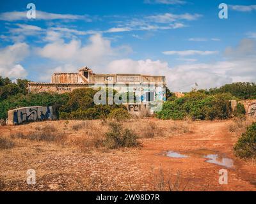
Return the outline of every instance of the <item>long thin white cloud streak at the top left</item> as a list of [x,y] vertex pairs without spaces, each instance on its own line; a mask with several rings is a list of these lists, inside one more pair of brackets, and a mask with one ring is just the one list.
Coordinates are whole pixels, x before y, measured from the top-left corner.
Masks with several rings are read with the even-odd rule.
[[[0,20],[15,21],[15,20],[28,20],[27,11],[10,11],[0,13]],[[59,14],[48,13],[45,11],[36,10],[36,20],[85,20],[91,22],[92,20],[88,15],[72,15],[72,14]]]

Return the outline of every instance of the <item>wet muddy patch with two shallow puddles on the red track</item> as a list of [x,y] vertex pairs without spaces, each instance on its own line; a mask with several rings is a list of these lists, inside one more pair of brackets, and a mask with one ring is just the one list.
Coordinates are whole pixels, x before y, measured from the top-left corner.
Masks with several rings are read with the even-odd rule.
[[207,149],[198,149],[185,153],[175,152],[173,150],[169,150],[166,152],[166,156],[173,158],[187,158],[187,157],[201,157],[205,158],[205,162],[217,164],[219,166],[225,166],[227,168],[232,168],[234,166],[233,159],[225,157],[224,154],[218,154],[218,152]]

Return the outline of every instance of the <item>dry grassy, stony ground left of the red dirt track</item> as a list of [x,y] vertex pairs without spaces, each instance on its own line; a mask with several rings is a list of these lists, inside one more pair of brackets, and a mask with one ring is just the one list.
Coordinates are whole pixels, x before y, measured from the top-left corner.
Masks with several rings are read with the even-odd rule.
[[[115,147],[116,150],[106,145],[108,135],[115,133],[115,129],[109,126],[111,123],[121,128],[124,138],[124,144]],[[191,126],[189,121],[156,119],[131,119],[123,123],[113,120],[60,120],[5,126],[0,137],[1,172],[5,172],[0,178],[0,188],[4,191],[154,189],[154,184],[146,182],[149,175],[138,170],[138,155],[132,152],[143,147],[144,140],[179,136],[189,133]],[[129,137],[132,140],[127,140]],[[141,145],[131,147],[138,144]],[[126,159],[120,164],[123,157]],[[81,165],[83,167],[76,170]],[[19,170],[15,170],[15,166],[19,166]],[[40,169],[37,171],[40,182],[32,188],[24,179],[29,168]],[[99,169],[106,175],[101,173],[99,176]],[[125,171],[127,173],[116,179],[116,172]],[[133,177],[140,180],[140,184],[134,184]]]

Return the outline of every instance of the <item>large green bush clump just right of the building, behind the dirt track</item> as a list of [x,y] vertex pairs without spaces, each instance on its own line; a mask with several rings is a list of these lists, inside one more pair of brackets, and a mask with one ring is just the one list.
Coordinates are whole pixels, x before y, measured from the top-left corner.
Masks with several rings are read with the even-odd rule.
[[189,92],[183,98],[164,103],[157,117],[173,120],[186,116],[193,120],[228,119],[232,116],[230,99],[234,97],[228,93],[209,96],[204,92]]

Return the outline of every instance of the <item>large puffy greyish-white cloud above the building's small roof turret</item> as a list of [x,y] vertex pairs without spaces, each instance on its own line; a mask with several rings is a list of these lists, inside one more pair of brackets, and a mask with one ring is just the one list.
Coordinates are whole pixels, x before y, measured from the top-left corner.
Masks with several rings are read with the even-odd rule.
[[[51,38],[50,38],[51,39]],[[43,48],[38,48],[37,53],[54,61],[66,64],[77,64],[77,66],[104,66],[106,61],[119,55],[131,52],[127,46],[111,47],[111,41],[102,38],[101,34],[90,36],[89,43],[82,45],[80,40],[71,40],[65,43],[62,39],[56,39]]]

